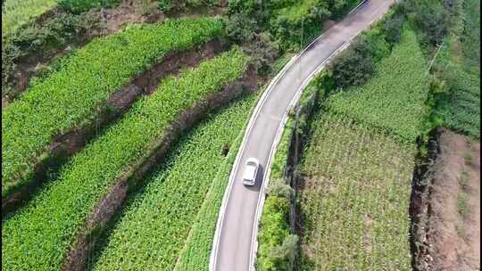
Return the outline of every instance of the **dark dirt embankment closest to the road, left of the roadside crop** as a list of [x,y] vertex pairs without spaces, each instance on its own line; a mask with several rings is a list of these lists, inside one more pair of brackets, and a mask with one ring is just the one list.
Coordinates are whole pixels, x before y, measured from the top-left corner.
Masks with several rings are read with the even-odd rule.
[[256,69],[253,66],[245,71],[243,78],[225,86],[221,92],[212,94],[206,100],[195,104],[194,107],[180,114],[178,119],[172,123],[166,135],[152,145],[150,152],[145,154],[144,159],[131,165],[128,168],[129,170],[117,179],[116,185],[112,185],[109,193],[105,194],[103,199],[99,201],[96,209],[91,213],[90,218],[87,219],[85,226],[78,235],[76,242],[72,245],[63,263],[62,270],[85,270],[88,255],[96,247],[97,239],[105,226],[121,208],[129,191],[135,189],[142,182],[148,170],[162,160],[169,150],[170,144],[181,133],[193,127],[206,113],[217,110],[236,98],[244,88],[249,91],[257,89]]

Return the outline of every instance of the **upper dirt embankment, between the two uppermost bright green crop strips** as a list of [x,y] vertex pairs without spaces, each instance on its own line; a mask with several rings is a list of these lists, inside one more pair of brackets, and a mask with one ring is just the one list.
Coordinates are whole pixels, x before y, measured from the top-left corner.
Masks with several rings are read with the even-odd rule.
[[97,118],[90,119],[70,131],[55,136],[47,147],[45,155],[42,155],[44,158],[37,160],[34,176],[29,184],[19,187],[15,193],[2,201],[2,212],[12,211],[26,201],[38,186],[57,172],[58,168],[71,155],[79,152],[89,140],[94,138],[100,128],[119,119],[140,95],[152,94],[162,78],[176,75],[187,67],[195,67],[199,62],[214,57],[226,49],[225,47],[226,45],[221,44],[218,39],[213,39],[211,42],[195,46],[186,52],[170,53],[162,62],[155,64],[151,69],[135,78],[129,86],[112,94],[107,103],[94,114]]

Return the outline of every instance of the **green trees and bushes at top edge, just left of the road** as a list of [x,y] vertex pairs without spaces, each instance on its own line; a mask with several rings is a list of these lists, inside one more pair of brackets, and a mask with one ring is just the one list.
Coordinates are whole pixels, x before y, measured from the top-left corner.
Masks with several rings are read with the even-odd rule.
[[231,32],[238,40],[253,31],[269,31],[282,51],[297,51],[300,45],[320,35],[323,21],[339,17],[358,3],[357,0],[230,0],[228,25],[232,25]]

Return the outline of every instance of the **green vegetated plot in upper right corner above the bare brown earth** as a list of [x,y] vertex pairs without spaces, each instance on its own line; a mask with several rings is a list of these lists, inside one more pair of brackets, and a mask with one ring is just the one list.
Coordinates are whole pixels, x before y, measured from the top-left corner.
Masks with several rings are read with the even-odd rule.
[[[480,4],[464,1],[454,8],[453,28],[437,56],[436,118],[445,127],[480,138]],[[461,27],[457,24],[461,22]],[[475,45],[475,46],[474,46]]]

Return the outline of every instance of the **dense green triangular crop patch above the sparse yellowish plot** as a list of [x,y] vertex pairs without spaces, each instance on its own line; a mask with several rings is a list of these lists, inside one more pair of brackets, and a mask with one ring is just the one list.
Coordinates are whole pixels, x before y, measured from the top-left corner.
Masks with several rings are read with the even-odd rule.
[[415,33],[403,29],[401,43],[378,62],[373,77],[330,96],[327,108],[412,143],[425,132],[428,118],[427,70]]

